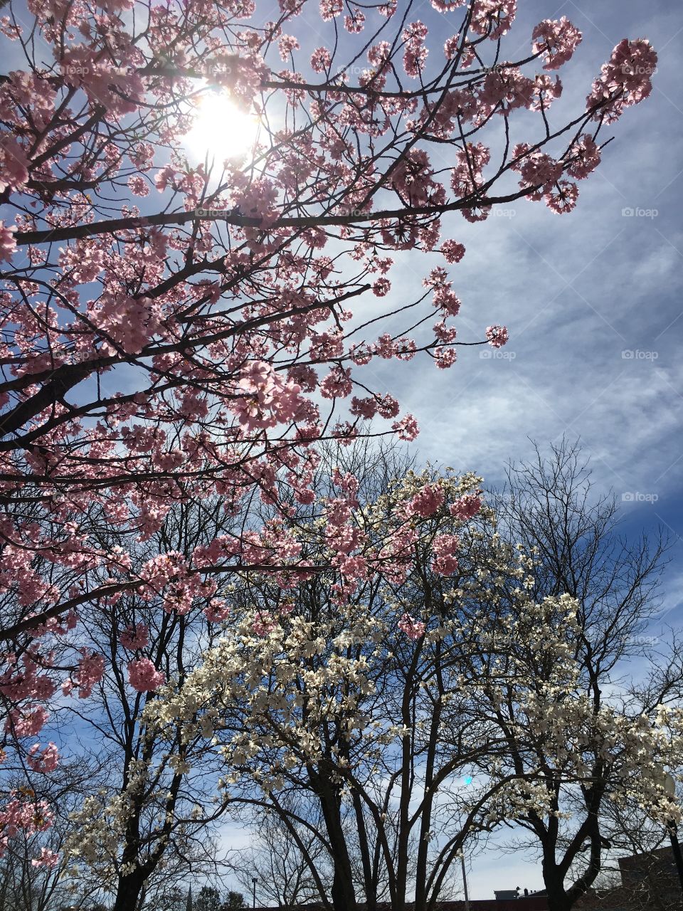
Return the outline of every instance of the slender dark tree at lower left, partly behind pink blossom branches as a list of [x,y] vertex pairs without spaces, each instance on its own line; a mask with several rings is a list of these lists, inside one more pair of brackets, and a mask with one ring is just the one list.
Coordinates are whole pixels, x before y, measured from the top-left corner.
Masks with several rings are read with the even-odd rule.
[[[174,504],[158,532],[132,548],[134,566],[153,554],[191,553],[231,523],[215,497]],[[100,544],[112,547],[107,536]],[[214,838],[226,809],[215,799],[221,765],[200,732],[180,749],[178,730],[150,730],[144,716],[158,687],[184,681],[218,636],[224,613],[215,604],[207,596],[186,612],[165,611],[158,599],[126,592],[82,610],[80,640],[100,651],[104,676],[86,701],[57,714],[77,715],[100,772],[82,789],[64,858],[70,879],[97,884],[115,911],[163,906],[172,885],[184,888],[189,875],[216,876],[221,868]]]

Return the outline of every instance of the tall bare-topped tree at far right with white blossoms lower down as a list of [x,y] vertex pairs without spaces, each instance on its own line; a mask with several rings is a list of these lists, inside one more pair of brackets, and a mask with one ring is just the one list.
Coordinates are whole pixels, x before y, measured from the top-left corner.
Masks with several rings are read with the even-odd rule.
[[[656,728],[658,717],[673,718],[664,706],[680,705],[683,650],[670,630],[663,640],[647,632],[658,617],[668,542],[620,535],[614,497],[596,494],[579,445],[566,439],[548,457],[536,447],[530,461],[511,466],[496,517],[496,533],[534,554],[533,599],[566,592],[576,610],[569,620],[550,614],[540,639],[512,637],[501,657],[509,684],[501,691],[496,679],[478,691],[482,711],[507,741],[505,767],[535,780],[549,798],[552,813],[515,819],[512,844],[537,852],[550,905],[565,911],[596,882],[610,847],[624,849],[627,820],[632,844],[642,843],[648,828],[665,831],[666,813],[655,813],[654,821],[648,816],[661,797],[661,766],[668,764],[668,745],[658,741]],[[515,597],[505,597],[498,610],[502,621],[525,622]],[[558,689],[547,637],[566,623],[570,685],[560,681]],[[636,657],[637,684],[627,663]],[[479,670],[467,660],[469,674]],[[522,681],[530,681],[524,700]],[[669,745],[676,756],[677,744]]]

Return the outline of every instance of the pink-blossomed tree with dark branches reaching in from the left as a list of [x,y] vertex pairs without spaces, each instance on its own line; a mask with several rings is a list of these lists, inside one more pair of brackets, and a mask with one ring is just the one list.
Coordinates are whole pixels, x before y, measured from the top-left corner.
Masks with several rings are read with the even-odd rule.
[[[395,0],[281,0],[266,23],[251,0],[27,6],[6,5],[1,23],[14,68],[0,77],[0,694],[8,745],[47,770],[46,702],[60,682],[87,696],[104,672],[97,652],[60,645],[84,604],[135,590],[182,611],[220,573],[301,562],[279,519],[139,571],[131,541],[178,500],[218,495],[231,514],[254,491],[309,502],[314,442],[366,433],[375,415],[392,421],[375,432],[412,439],[414,418],[356,368],[417,353],[445,368],[457,344],[507,332],[456,342],[461,304],[441,267],[425,268],[419,299],[383,303],[397,251],[459,261],[462,244],[441,237],[452,210],[571,210],[604,125],[649,93],[656,55],[621,42],[576,117],[552,125],[555,71],[581,36],[545,20],[507,59],[515,0],[433,0],[426,23]],[[442,15],[446,41],[430,46]],[[208,95],[258,122],[245,154],[184,139]],[[523,109],[536,127],[516,137]],[[102,523],[119,534],[109,551]],[[391,562],[340,541],[342,589]],[[133,673],[148,690],[161,681],[147,663]],[[0,845],[33,809],[9,795]]]

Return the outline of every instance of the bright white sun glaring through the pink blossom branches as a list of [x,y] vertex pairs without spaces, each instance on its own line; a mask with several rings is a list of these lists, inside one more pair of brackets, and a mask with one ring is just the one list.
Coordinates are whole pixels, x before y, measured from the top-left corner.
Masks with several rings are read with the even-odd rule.
[[197,104],[194,123],[185,145],[201,156],[216,161],[241,159],[254,148],[259,133],[255,115],[219,92],[203,95]]

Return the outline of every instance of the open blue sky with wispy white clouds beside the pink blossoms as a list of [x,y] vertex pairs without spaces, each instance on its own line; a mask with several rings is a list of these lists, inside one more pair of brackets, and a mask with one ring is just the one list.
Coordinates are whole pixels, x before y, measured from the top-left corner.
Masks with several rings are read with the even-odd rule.
[[[415,12],[433,22],[428,0]],[[450,371],[421,358],[398,371],[392,362],[387,388],[419,419],[414,446],[421,460],[472,469],[491,483],[500,480],[509,459],[530,454],[529,437],[541,445],[563,434],[580,437],[597,484],[613,488],[623,502],[625,531],[659,525],[673,537],[659,625],[678,626],[683,15],[676,0],[521,0],[505,56],[515,56],[515,41],[524,56],[533,26],[562,15],[581,29],[584,41],[561,71],[565,90],[553,111],[556,123],[564,111],[567,119],[576,113],[623,37],[647,37],[658,51],[653,94],[607,131],[615,139],[600,167],[579,185],[571,215],[521,201],[479,224],[457,214],[444,220],[444,234],[467,248],[451,268],[463,301],[460,337],[480,339],[485,326],[501,322],[510,342],[500,357],[488,347],[461,349]],[[435,36],[434,53],[443,37]],[[434,257],[433,264],[443,261]],[[425,271],[422,256],[397,260],[394,302],[401,302],[397,289],[418,291]],[[378,379],[388,384],[390,377]],[[226,836],[233,846],[248,838],[234,831]],[[537,862],[494,844],[470,858],[468,867],[473,898],[493,897],[496,888],[543,886]]]

